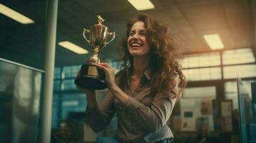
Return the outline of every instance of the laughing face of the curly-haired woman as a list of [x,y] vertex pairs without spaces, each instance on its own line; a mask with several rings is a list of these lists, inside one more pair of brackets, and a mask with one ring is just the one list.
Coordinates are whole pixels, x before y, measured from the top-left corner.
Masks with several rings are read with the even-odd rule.
[[149,53],[147,31],[143,21],[133,24],[128,36],[128,51],[132,56],[145,56]]

